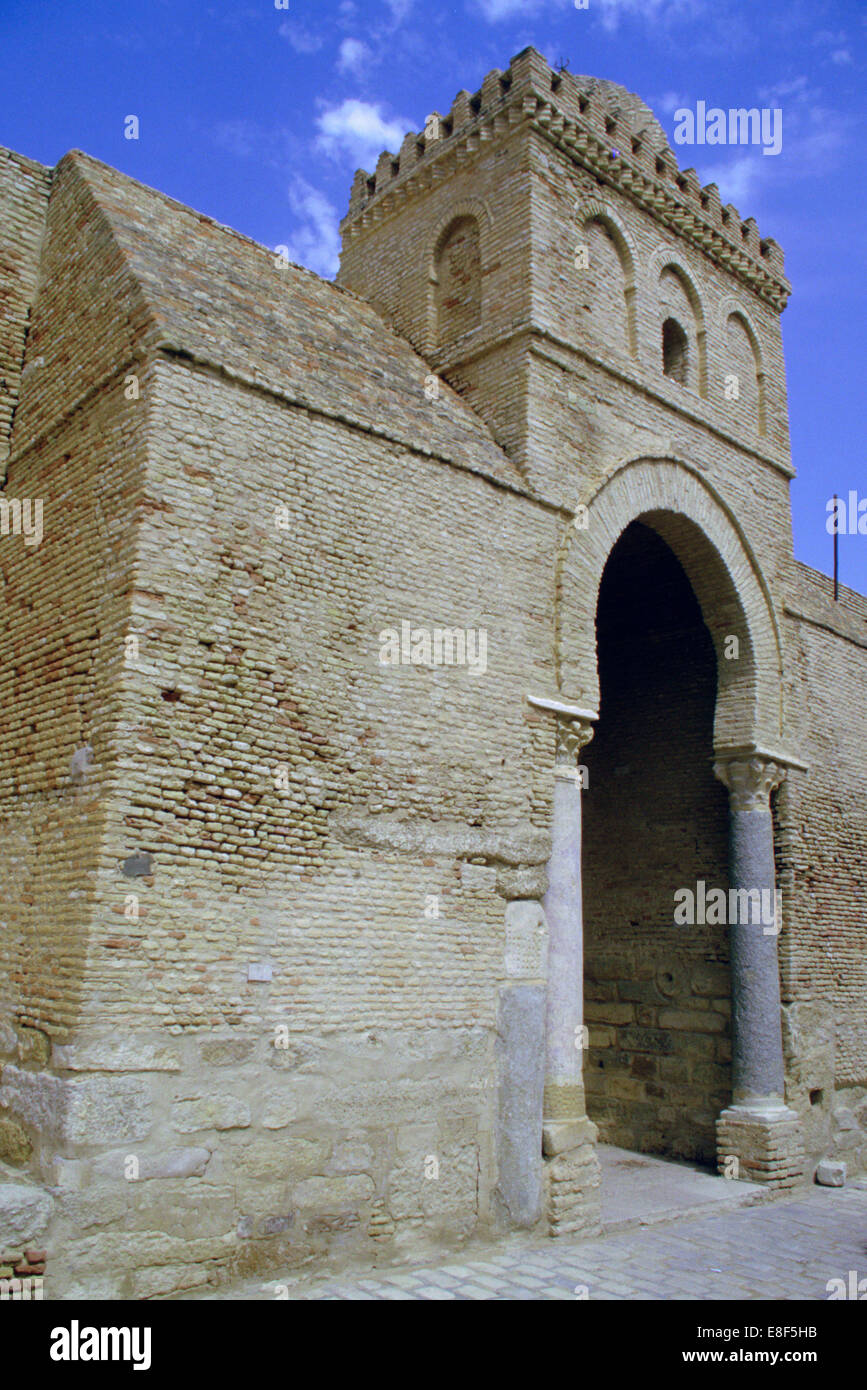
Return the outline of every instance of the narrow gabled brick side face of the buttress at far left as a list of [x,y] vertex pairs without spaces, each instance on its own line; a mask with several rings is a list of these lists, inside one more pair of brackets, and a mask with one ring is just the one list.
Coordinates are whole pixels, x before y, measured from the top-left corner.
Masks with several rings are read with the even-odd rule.
[[[0,817],[7,865],[7,1008],[61,1037],[76,1020],[103,833],[100,769],[118,738],[143,406],[113,371],[128,356],[118,278],[86,188],[57,178],[31,310],[6,495],[43,505],[43,537],[0,538]],[[124,292],[126,291],[126,293]],[[135,306],[132,306],[135,309]],[[117,352],[117,356],[114,356]],[[99,398],[82,395],[90,374]],[[93,751],[90,771],[74,759]]]

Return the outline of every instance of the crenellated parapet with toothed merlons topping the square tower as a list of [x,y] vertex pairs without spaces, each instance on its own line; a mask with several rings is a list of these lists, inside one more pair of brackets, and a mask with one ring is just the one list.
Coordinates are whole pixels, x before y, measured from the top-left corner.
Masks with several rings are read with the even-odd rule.
[[342,222],[346,243],[407,199],[452,174],[486,142],[529,125],[575,165],[617,189],[661,227],[702,250],[778,311],[791,285],[782,249],[754,220],[722,206],[716,183],[681,170],[666,132],[645,103],[614,82],[556,72],[535,49],[495,70],[471,96],[459,92],[447,115],[434,113],[400,153],[383,152],[374,174],[356,174]]

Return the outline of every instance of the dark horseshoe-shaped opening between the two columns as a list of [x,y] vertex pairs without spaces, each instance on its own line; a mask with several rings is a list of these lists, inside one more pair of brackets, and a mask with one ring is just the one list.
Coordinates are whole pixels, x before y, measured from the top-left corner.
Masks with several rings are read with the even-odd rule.
[[634,521],[596,613],[600,714],[585,749],[585,1056],[600,1140],[711,1163],[731,1099],[724,924],[675,898],[728,890],[728,796],[713,774],[717,659],[675,553]]

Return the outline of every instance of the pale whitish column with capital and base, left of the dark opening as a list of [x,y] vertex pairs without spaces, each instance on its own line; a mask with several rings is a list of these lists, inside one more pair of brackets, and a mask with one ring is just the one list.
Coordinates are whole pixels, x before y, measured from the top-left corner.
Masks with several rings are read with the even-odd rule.
[[[534,702],[536,703],[536,702]],[[542,702],[538,702],[542,706]],[[552,858],[547,866],[547,1005],[542,1151],[552,1236],[596,1234],[602,1182],[596,1126],[584,1098],[584,916],[581,888],[581,749],[595,714],[550,702],[557,716]]]

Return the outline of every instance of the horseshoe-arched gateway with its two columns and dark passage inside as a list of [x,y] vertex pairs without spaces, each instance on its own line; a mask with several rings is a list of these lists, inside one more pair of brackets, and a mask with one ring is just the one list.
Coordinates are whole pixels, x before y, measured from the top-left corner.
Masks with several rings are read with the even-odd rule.
[[[660,873],[653,856],[650,826],[645,823],[645,862],[639,865],[624,859],[620,872],[620,878],[632,888],[636,917],[631,923],[611,920],[609,913],[611,901],[617,898],[614,884],[618,878],[611,844],[606,845],[604,853],[607,880],[596,874],[602,901],[588,903],[582,863],[582,798],[588,791],[593,805],[592,758],[584,759],[582,751],[591,744],[600,714],[606,714],[604,708],[600,710],[600,641],[606,623],[620,623],[622,628],[624,595],[609,595],[606,613],[604,591],[609,580],[616,582],[611,566],[617,564],[624,545],[631,552],[624,574],[636,577],[639,588],[653,578],[661,582],[670,617],[672,605],[686,610],[685,616],[675,612],[670,634],[674,638],[672,652],[679,655],[681,680],[674,682],[668,698],[677,695],[684,680],[695,680],[697,685],[704,685],[703,692],[696,692],[696,699],[707,701],[710,677],[713,721],[707,720],[707,737],[711,746],[707,748],[707,766],[699,770],[697,780],[700,784],[703,777],[706,784],[710,783],[713,766],[716,777],[728,788],[729,799],[728,877],[720,884],[721,866],[718,855],[714,855],[713,833],[718,824],[711,827],[706,847],[709,858],[703,862],[699,831],[704,817],[696,816],[696,806],[688,802],[686,812],[681,806],[678,824],[677,803],[682,799],[682,787],[666,788],[663,769],[650,770],[649,777],[647,769],[643,769],[645,785],[650,783],[654,787],[657,816],[660,812],[666,816],[666,791],[671,795],[667,830],[674,826],[681,831],[696,828],[696,853],[685,856],[695,878],[684,881],[686,865],[682,860],[678,863],[677,851]],[[646,557],[643,570],[642,549]],[[695,1118],[692,1141],[684,1137],[684,1131],[689,1134],[696,1081],[700,1083],[697,1090],[703,1086],[707,1094],[716,1090],[724,1095],[729,1088],[727,1068],[722,1066],[729,1055],[728,1011],[720,998],[724,994],[722,972],[709,970],[707,966],[728,965],[731,969],[732,1104],[722,1105],[716,1123],[720,1170],[728,1176],[749,1175],[775,1183],[788,1182],[800,1172],[803,1155],[798,1118],[784,1102],[777,959],[779,922],[775,915],[768,916],[767,910],[759,909],[763,903],[767,909],[768,899],[777,901],[770,796],[784,781],[786,769],[802,764],[781,746],[782,659],[767,582],[735,517],[695,468],[671,457],[638,459],[616,468],[593,496],[581,503],[559,569],[556,644],[560,694],[557,699],[531,696],[531,702],[550,712],[557,730],[553,853],[545,898],[549,995],[543,1148],[552,1161],[552,1229],[570,1230],[584,1225],[588,1205],[591,1211],[595,1205],[595,1126],[588,1120],[585,1086],[588,1076],[595,1080],[597,1069],[604,1069],[603,1054],[611,1042],[616,1065],[609,1087],[596,1086],[607,1136],[624,1141],[625,1134],[625,1143],[629,1143],[629,1129],[622,1120],[624,1102],[638,1097],[646,1102],[641,1116],[643,1140],[634,1140],[634,1147],[707,1156],[700,1116]],[[646,599],[647,595],[643,596]],[[691,603],[692,613],[688,612]],[[688,624],[699,646],[699,632],[704,630],[704,652],[695,646],[678,652],[678,637],[684,637],[682,631],[678,634],[678,621]],[[641,624],[632,632],[627,626],[620,653],[620,663],[627,670],[641,656]],[[653,663],[653,653],[650,660]],[[657,653],[656,660],[664,660],[664,655]],[[632,678],[627,676],[627,685],[632,698],[641,695],[641,681],[636,682],[634,674]],[[611,691],[603,688],[602,694],[603,701],[613,699]],[[617,710],[621,720],[634,720],[639,728],[647,724],[646,746],[641,748],[641,739],[638,748],[635,739],[631,746],[639,759],[642,755],[652,756],[650,730],[657,738],[661,731],[666,735],[661,746],[667,744],[670,749],[688,733],[681,723],[675,724],[678,716],[688,713],[685,706],[659,708],[666,699],[664,681],[661,685],[657,681],[652,698],[657,708],[650,712],[649,723],[645,720],[647,712],[629,708],[628,699]],[[695,737],[696,730],[692,734]],[[609,744],[611,735],[616,741],[617,730],[609,730]],[[693,760],[695,753],[693,748]],[[631,771],[631,767],[618,769],[609,756],[603,778],[609,806],[606,830],[624,851],[628,808],[618,802],[629,796]],[[617,787],[620,773],[627,774],[622,791]],[[713,805],[713,788],[706,785],[703,795],[707,821],[713,821],[714,816],[718,821],[720,808]],[[718,848],[718,835],[716,840]],[[646,884],[642,873],[654,876],[656,881]],[[710,899],[710,912],[709,888],[716,894]],[[666,891],[671,903],[667,922]],[[649,929],[663,927],[670,935],[675,927],[678,899],[686,908],[681,926],[695,929],[699,937],[692,951],[679,952],[678,967],[667,969],[664,960],[653,960]],[[638,933],[634,942],[638,954],[632,955],[631,963],[641,962],[638,970],[629,972],[629,958],[621,956],[618,966],[609,965],[607,972],[604,966],[595,972],[595,991],[591,992],[596,992],[597,998],[592,1001],[591,1013],[597,1023],[596,1030],[593,1022],[585,1026],[582,1008],[586,919],[596,922],[597,956],[604,959],[606,947],[617,942],[618,937],[622,940],[627,926],[627,935],[629,927],[634,934]],[[700,929],[707,927],[717,929],[716,940],[703,938]],[[625,1027],[621,1027],[624,1023]],[[684,1044],[679,1056],[678,1048],[671,1045],[671,1034],[677,1034],[678,1042]],[[600,1045],[596,1047],[596,1042]],[[678,1093],[685,1097],[682,1105],[678,1105]],[[660,1106],[653,1101],[663,1097],[668,1102],[667,1113],[663,1109],[661,1123],[654,1127],[649,1116],[652,1112],[659,1116]]]

